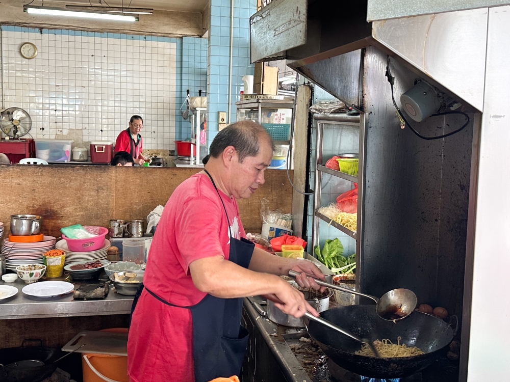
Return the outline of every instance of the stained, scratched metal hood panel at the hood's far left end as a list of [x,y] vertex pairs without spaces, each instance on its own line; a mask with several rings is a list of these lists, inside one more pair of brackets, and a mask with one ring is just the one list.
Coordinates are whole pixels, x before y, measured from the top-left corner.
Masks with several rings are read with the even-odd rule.
[[306,41],[307,0],[278,0],[250,17],[251,62]]

